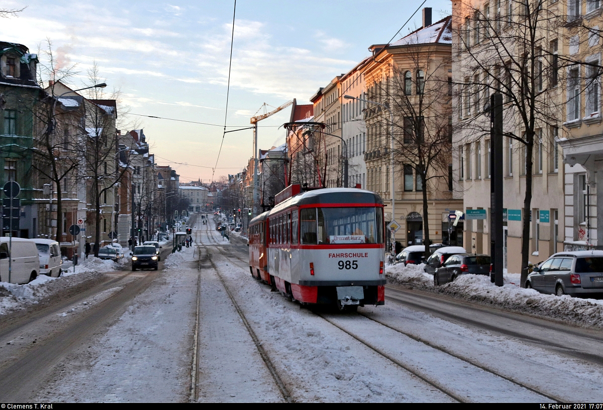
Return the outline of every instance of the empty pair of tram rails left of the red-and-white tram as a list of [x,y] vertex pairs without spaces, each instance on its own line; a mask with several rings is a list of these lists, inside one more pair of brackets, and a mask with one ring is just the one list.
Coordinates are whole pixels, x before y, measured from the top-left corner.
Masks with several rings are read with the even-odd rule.
[[[197,386],[197,380],[199,380],[199,366],[198,366],[198,362],[199,362],[199,349],[198,349],[198,344],[199,344],[199,319],[200,319],[200,298],[201,298],[201,248],[204,249],[205,254],[206,254],[206,260],[209,261],[209,263],[212,265],[212,269],[216,274],[216,277],[218,277],[219,282],[221,283],[222,287],[224,288],[224,291],[226,292],[226,294],[229,296],[230,301],[232,302],[232,306],[234,307],[234,309],[236,310],[236,313],[238,313],[239,318],[241,318],[241,322],[244,325],[245,329],[247,330],[247,333],[249,334],[251,340],[253,341],[256,349],[257,349],[257,353],[259,353],[260,357],[262,358],[262,361],[264,362],[264,365],[266,367],[266,369],[268,370],[268,373],[270,373],[270,376],[272,377],[272,379],[274,380],[275,385],[277,386],[277,388],[279,389],[279,392],[283,398],[283,400],[286,403],[292,403],[292,397],[291,397],[291,393],[289,392],[288,387],[286,386],[285,382],[283,382],[283,380],[281,379],[276,367],[274,366],[272,360],[270,359],[270,356],[268,356],[267,351],[264,349],[264,346],[262,345],[262,342],[259,340],[259,338],[257,337],[256,333],[254,332],[253,328],[251,327],[247,317],[245,316],[245,313],[242,311],[241,307],[239,306],[239,304],[237,303],[235,296],[233,296],[232,292],[230,291],[229,287],[226,284],[226,281],[224,281],[223,276],[219,273],[218,267],[216,266],[215,262],[212,260],[212,255],[210,253],[210,250],[207,246],[207,244],[203,243],[203,235],[201,234],[201,229],[194,229],[195,232],[195,247],[197,248],[197,254],[198,254],[198,271],[199,271],[199,277],[198,277],[198,285],[197,285],[197,319],[196,319],[196,323],[195,323],[195,333],[194,333],[194,358],[193,358],[193,364],[192,364],[192,370],[191,370],[191,399],[189,401],[191,402],[196,402],[198,400],[198,396],[199,396],[199,392],[198,392],[198,386]],[[215,239],[215,237],[213,237],[212,234],[210,234],[210,224],[207,223],[206,224],[206,237],[208,237],[210,240],[212,240],[213,243],[215,243],[215,245],[220,245],[219,242]],[[219,248],[218,248],[219,249]],[[222,252],[220,252],[221,255],[224,255]]]

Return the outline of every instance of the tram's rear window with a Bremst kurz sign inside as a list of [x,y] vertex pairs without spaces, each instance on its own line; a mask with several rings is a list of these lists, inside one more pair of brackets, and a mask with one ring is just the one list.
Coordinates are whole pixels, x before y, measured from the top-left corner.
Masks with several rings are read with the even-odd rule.
[[383,243],[382,208],[306,208],[300,213],[302,245]]

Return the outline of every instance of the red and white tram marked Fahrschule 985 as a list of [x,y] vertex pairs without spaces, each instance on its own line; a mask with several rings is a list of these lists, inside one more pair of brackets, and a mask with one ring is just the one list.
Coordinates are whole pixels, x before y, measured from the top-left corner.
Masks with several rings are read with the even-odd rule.
[[[294,193],[291,188],[281,194]],[[384,304],[380,196],[356,188],[279,196],[271,211],[250,222],[251,273],[259,269],[262,280],[303,304],[337,304],[341,310]]]

